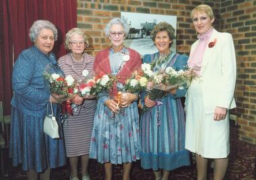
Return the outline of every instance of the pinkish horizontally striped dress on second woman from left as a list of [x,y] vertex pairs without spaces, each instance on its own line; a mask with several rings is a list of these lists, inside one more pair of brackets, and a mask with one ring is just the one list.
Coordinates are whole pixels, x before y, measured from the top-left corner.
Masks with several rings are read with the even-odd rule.
[[[94,56],[84,53],[84,59],[76,62],[69,53],[59,58],[58,62],[66,76],[71,75],[75,81],[79,81],[83,79],[84,69],[92,71]],[[63,125],[68,157],[89,154],[95,108],[96,100],[84,101],[73,111],[73,116],[69,116],[67,125]]]

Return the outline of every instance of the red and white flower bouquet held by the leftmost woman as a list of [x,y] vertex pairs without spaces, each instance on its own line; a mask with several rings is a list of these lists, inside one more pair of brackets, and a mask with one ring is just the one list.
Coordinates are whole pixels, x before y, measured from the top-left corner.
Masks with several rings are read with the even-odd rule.
[[59,74],[44,72],[44,78],[48,81],[49,89],[52,93],[71,97],[73,95],[73,88],[75,87],[74,79],[71,75],[62,77]]

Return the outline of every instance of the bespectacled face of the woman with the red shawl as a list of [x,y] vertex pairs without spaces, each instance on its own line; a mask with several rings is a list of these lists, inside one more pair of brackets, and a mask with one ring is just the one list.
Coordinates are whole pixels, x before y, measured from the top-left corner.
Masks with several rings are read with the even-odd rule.
[[125,40],[125,32],[121,24],[113,24],[110,28],[109,39],[114,47],[123,46]]

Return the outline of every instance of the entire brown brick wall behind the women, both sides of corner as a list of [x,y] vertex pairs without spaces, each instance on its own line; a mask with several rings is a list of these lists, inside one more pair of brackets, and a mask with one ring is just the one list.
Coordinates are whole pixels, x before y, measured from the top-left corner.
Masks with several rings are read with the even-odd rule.
[[205,3],[214,9],[214,27],[230,32],[237,56],[236,101],[239,138],[256,144],[256,3],[245,0],[77,0],[77,27],[89,36],[90,54],[108,47],[103,29],[121,11],[177,15],[177,52],[189,54],[197,36],[190,13],[193,7]]

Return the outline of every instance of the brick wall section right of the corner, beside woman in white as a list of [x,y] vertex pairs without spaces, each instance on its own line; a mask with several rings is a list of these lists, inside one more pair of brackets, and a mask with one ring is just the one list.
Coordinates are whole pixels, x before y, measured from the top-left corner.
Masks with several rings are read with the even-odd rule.
[[256,144],[256,1],[220,3],[221,29],[234,38],[238,136]]

